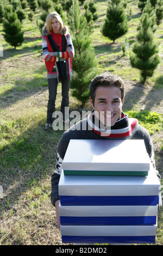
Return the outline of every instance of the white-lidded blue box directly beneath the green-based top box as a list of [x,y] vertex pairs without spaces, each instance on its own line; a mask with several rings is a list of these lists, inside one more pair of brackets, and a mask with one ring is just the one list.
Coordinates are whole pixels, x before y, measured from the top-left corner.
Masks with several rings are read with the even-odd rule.
[[148,176],[64,175],[61,205],[156,205],[160,182],[151,164]]

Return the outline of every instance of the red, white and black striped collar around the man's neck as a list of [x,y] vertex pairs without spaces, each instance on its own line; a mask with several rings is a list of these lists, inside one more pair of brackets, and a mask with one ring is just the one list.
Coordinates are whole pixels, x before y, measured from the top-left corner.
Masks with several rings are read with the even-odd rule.
[[[105,129],[101,129],[100,125],[95,124],[95,115],[93,114],[95,110],[87,116],[87,123],[91,129],[98,135],[106,138],[115,139],[129,139],[132,133],[137,130],[138,120],[136,118],[128,118],[127,114],[121,113],[121,117],[116,121],[114,126],[105,126]],[[96,122],[97,123],[97,122]]]

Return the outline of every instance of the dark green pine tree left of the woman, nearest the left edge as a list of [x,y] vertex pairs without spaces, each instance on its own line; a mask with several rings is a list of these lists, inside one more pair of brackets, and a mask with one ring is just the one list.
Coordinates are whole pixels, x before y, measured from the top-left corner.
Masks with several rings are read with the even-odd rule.
[[9,42],[11,46],[20,46],[24,41],[23,32],[21,31],[22,25],[17,18],[17,14],[12,11],[12,6],[7,5],[4,8],[3,19],[3,36],[5,41]]

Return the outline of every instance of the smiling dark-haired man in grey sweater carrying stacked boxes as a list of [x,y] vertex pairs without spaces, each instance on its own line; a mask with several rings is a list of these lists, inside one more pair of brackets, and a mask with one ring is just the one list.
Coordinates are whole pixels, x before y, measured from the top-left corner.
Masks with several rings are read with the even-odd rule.
[[[138,120],[128,118],[122,112],[124,102],[123,80],[115,75],[96,76],[90,86],[92,112],[86,119],[64,132],[59,147],[56,169],[52,175],[51,200],[55,206],[58,228],[60,229],[58,182],[70,139],[143,139],[147,153],[155,168],[153,143],[148,131]],[[111,128],[111,129],[110,129]],[[160,175],[156,170],[158,178]],[[160,200],[161,206],[161,200]]]

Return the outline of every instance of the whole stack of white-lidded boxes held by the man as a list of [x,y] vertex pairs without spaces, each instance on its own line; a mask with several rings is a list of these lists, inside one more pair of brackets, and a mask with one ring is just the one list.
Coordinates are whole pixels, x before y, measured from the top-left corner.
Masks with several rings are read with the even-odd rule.
[[160,182],[143,140],[71,140],[59,181],[63,243],[154,243]]

